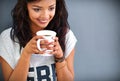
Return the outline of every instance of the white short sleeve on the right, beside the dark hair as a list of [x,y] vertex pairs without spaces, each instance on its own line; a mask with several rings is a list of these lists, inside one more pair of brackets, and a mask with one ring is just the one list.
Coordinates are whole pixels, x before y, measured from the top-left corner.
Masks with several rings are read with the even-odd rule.
[[69,56],[70,52],[73,50],[77,42],[77,39],[74,35],[74,33],[69,30],[69,32],[66,34],[66,51],[65,51],[65,58]]

